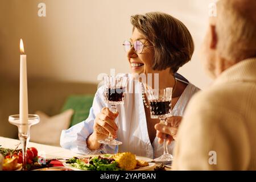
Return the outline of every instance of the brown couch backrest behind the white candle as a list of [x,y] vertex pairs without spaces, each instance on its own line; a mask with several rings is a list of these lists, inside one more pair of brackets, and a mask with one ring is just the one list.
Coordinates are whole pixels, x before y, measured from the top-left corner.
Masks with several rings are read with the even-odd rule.
[[[59,114],[71,94],[95,94],[97,84],[34,79],[28,80],[28,110],[30,114],[43,111]],[[0,136],[17,138],[17,128],[8,122],[8,116],[19,114],[19,80],[1,79],[0,82]]]

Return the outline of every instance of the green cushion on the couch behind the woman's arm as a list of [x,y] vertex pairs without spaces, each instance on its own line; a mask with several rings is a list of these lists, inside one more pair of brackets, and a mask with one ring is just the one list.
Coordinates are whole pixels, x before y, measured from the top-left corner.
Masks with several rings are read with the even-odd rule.
[[70,127],[88,118],[90,107],[92,107],[94,95],[71,95],[64,103],[61,113],[67,109],[73,109]]

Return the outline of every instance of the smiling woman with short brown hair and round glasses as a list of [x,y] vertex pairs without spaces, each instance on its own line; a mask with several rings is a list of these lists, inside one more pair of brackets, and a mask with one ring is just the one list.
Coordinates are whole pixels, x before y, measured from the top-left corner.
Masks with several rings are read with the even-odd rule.
[[[182,116],[188,101],[199,90],[176,73],[191,60],[194,49],[191,34],[180,20],[164,13],[134,15],[131,16],[131,24],[131,38],[123,43],[132,72],[127,76],[158,73],[159,88],[173,88],[172,114]],[[129,80],[128,85],[132,84],[132,79]],[[143,84],[138,82],[134,85],[134,90],[142,89]],[[144,100],[147,100],[145,94],[126,94],[125,104],[117,106],[118,113],[112,113],[104,102],[104,88],[99,88],[89,117],[61,133],[61,146],[81,154],[130,151],[151,159],[159,157],[163,154],[163,145],[158,143],[162,143],[162,139],[158,141],[158,137],[162,136],[158,133],[156,137],[155,129],[159,119],[151,119],[150,108]],[[174,122],[172,127],[175,126],[177,128],[178,124]],[[98,143],[109,133],[122,144],[110,146]],[[169,143],[171,140],[169,136]],[[172,151],[174,143],[168,145],[169,151]]]

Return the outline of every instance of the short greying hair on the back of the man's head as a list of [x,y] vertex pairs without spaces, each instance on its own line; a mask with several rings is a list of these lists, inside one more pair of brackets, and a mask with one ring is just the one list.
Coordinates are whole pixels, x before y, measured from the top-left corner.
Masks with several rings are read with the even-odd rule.
[[256,56],[256,1],[217,2],[217,49],[230,61]]

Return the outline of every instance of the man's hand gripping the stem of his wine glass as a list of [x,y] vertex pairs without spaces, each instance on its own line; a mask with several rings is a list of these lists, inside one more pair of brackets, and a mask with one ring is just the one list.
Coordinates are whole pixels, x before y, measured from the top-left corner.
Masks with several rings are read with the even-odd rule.
[[170,118],[167,118],[167,125],[163,125],[160,123],[155,125],[158,143],[163,143],[164,138],[166,138],[167,144],[171,144],[173,140],[176,140],[177,130],[180,125],[181,119],[181,116],[172,116]]

